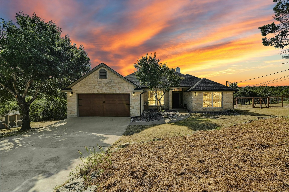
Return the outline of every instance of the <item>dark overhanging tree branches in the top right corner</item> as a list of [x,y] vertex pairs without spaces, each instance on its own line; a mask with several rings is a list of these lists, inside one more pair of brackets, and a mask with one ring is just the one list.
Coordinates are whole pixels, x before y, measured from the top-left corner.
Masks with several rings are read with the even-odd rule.
[[[284,49],[289,45],[289,0],[273,0],[277,2],[274,7],[275,17],[277,25],[275,22],[259,27],[262,36],[267,36],[269,34],[275,35],[275,37],[262,38],[262,43],[264,46],[274,46],[275,48]],[[289,50],[281,50],[281,54],[284,59],[289,59]]]

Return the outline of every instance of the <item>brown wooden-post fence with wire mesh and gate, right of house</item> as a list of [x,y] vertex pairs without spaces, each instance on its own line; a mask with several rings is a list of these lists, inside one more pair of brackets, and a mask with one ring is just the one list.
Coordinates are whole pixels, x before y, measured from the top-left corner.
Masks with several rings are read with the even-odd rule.
[[234,108],[289,107],[289,96],[281,97],[236,97]]

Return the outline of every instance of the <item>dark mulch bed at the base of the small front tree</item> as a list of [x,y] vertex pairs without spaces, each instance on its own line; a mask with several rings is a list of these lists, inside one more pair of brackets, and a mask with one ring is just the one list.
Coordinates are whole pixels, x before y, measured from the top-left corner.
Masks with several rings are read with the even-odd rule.
[[164,110],[161,114],[159,114],[156,109],[144,110],[142,115],[134,118],[132,122],[164,120],[176,116],[177,114],[178,112],[176,110]]

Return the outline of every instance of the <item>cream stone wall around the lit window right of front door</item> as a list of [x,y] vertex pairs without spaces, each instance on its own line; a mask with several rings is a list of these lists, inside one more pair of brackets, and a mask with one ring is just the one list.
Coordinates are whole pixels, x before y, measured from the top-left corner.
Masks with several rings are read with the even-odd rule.
[[222,108],[203,108],[203,93],[197,92],[184,92],[184,103],[187,103],[187,109],[191,111],[227,111],[234,110],[233,106],[233,93],[223,92],[223,107]]

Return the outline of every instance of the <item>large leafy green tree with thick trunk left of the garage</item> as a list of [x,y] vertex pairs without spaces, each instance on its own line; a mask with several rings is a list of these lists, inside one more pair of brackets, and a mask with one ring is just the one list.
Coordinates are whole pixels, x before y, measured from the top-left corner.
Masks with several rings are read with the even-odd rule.
[[[17,101],[25,130],[30,129],[29,106],[37,96],[55,93],[88,72],[90,59],[83,45],[72,44],[69,35],[61,37],[54,22],[21,11],[15,20],[16,24],[1,19],[1,97]],[[31,97],[25,101],[27,96]]]

